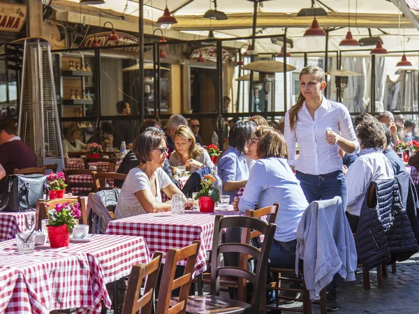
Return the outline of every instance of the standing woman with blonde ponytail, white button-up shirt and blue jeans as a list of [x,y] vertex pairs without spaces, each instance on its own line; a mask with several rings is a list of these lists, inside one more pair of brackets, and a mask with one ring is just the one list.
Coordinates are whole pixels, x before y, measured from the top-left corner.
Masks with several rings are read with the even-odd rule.
[[[306,66],[300,73],[300,96],[286,112],[284,135],[289,149],[288,164],[301,182],[307,201],[340,196],[346,204],[346,181],[339,147],[356,154],[359,143],[348,109],[323,96],[325,73]],[[295,160],[295,143],[300,156]]]

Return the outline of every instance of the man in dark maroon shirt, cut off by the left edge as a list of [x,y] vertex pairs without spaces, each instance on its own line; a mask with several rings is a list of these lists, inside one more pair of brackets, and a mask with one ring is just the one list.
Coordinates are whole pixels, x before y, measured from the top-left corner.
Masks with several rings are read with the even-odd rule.
[[36,155],[31,147],[17,136],[15,122],[0,121],[0,164],[5,172],[0,172],[0,191],[3,191],[6,176],[13,169],[36,167]]

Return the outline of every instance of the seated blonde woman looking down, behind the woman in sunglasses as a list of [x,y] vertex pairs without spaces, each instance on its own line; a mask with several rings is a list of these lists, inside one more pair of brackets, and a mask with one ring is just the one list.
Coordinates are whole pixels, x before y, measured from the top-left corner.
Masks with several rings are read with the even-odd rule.
[[184,165],[190,172],[196,172],[203,167],[214,167],[207,151],[196,145],[195,136],[189,127],[178,126],[173,139],[176,151],[170,154],[169,163],[172,167]]

